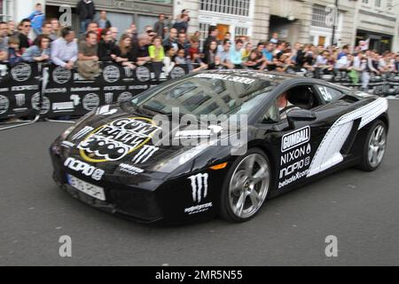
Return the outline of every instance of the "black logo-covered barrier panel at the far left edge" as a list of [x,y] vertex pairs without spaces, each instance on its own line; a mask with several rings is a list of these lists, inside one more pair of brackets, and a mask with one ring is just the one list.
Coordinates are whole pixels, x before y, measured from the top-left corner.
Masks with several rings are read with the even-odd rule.
[[33,117],[41,108],[40,71],[37,64],[3,66],[0,75],[0,120]]

